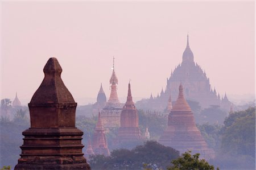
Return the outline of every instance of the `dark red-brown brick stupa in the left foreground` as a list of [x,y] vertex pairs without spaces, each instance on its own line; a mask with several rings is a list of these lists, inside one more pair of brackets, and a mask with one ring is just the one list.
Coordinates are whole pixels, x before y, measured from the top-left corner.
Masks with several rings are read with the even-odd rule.
[[23,131],[22,154],[14,169],[90,169],[82,154],[83,132],[75,127],[77,103],[65,87],[55,58],[28,107],[31,127]]

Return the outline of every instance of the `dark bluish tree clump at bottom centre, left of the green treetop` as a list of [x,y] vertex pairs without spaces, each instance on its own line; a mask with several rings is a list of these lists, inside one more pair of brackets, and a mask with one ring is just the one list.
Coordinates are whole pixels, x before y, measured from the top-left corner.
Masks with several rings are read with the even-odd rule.
[[114,150],[108,157],[91,156],[89,164],[92,169],[142,169],[144,164],[151,165],[152,169],[165,169],[170,165],[170,160],[177,157],[178,151],[151,140],[133,150]]

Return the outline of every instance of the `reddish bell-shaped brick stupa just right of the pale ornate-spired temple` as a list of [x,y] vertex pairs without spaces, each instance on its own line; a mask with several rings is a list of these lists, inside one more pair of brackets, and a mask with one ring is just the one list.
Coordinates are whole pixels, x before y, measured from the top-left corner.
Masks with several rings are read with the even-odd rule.
[[143,139],[141,131],[139,130],[138,110],[131,96],[131,85],[129,82],[127,101],[121,112],[121,126],[118,130],[117,141],[118,143],[122,143],[135,142]]

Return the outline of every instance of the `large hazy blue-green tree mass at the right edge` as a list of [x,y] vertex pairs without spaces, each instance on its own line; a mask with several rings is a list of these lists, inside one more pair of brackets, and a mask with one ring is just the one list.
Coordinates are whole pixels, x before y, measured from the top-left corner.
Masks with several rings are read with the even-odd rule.
[[255,107],[231,113],[224,125],[221,152],[255,158]]

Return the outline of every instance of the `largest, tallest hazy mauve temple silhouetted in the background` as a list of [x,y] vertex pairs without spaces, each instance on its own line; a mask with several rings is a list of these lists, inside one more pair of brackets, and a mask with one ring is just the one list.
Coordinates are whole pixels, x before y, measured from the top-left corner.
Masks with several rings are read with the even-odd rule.
[[[221,101],[220,96],[217,96],[217,92],[210,85],[210,80],[207,74],[200,65],[195,63],[194,55],[189,46],[189,37],[187,36],[187,46],[182,56],[182,63],[177,65],[174,72],[171,72],[170,78],[167,78],[166,89],[161,90],[160,96],[145,101],[137,102],[137,105],[147,105],[149,107],[154,107],[153,109],[162,110],[166,108],[166,102],[170,97],[177,98],[179,91],[179,84],[183,83],[184,95],[188,100],[199,102],[200,106],[203,108],[209,107],[210,105],[219,105],[223,109],[229,110],[231,102],[226,98]],[[225,105],[224,105],[225,103]]]

